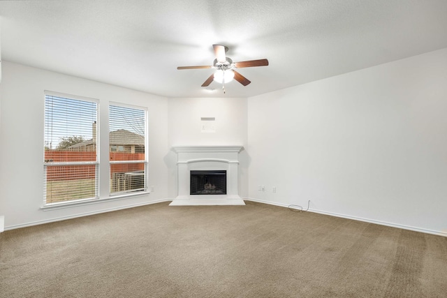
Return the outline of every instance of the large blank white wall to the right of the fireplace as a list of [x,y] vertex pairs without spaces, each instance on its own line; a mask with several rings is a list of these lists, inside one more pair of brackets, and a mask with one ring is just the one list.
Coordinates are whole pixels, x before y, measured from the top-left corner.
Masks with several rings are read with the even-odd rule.
[[248,142],[256,200],[447,235],[447,49],[249,98]]

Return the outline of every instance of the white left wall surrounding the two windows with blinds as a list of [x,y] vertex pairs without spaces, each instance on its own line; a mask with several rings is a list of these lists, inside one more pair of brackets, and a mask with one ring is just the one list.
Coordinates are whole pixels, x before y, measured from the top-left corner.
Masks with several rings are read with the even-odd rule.
[[[109,209],[121,209],[163,200],[168,195],[168,167],[163,158],[168,146],[168,99],[130,89],[3,61],[0,85],[0,215],[5,228],[54,221]],[[43,203],[43,91],[100,100],[100,133],[108,133],[108,103],[128,103],[149,110],[150,195],[42,211]],[[107,140],[105,140],[106,142]],[[108,148],[107,144],[102,144]],[[107,172],[101,163],[100,172]],[[105,179],[105,180],[103,180]],[[101,175],[101,197],[108,195],[107,175]]]

